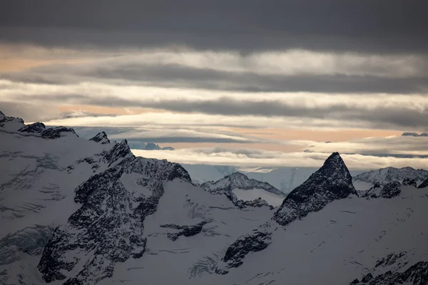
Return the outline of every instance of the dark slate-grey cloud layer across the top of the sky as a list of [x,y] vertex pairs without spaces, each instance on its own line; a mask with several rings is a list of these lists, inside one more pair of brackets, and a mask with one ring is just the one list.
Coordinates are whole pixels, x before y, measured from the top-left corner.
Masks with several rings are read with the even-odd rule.
[[427,1],[2,1],[4,42],[424,53]]

